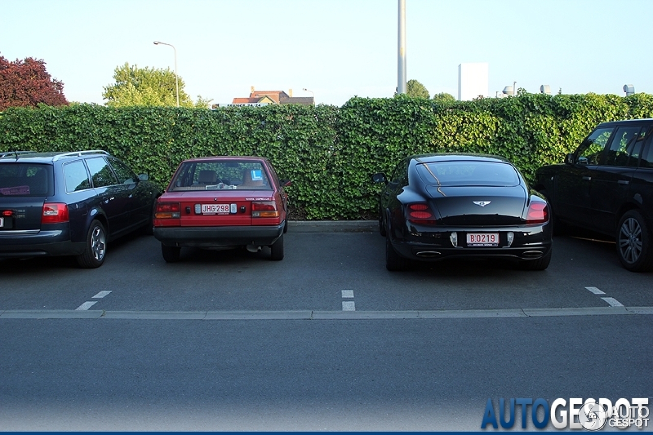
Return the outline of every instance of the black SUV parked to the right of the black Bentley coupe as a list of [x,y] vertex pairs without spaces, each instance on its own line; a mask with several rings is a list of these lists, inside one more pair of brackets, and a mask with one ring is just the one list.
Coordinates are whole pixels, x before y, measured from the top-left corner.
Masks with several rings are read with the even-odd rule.
[[613,236],[619,260],[633,272],[653,269],[652,138],[650,119],[602,123],[564,165],[536,172],[554,230],[566,223]]

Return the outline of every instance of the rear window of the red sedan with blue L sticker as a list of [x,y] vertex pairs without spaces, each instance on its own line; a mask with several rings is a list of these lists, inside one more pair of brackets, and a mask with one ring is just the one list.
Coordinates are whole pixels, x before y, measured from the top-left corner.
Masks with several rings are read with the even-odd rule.
[[187,161],[177,171],[170,191],[272,190],[270,176],[259,161]]

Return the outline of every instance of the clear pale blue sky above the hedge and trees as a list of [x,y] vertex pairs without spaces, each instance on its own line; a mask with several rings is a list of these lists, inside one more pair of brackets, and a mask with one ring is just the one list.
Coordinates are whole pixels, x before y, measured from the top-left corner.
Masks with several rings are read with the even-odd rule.
[[[653,0],[406,0],[407,78],[457,96],[458,65],[487,62],[490,96],[653,93],[651,17]],[[392,96],[397,23],[398,0],[0,0],[0,55],[43,59],[69,101],[103,104],[125,62],[174,71],[160,40],[194,100],[307,88],[340,106]]]

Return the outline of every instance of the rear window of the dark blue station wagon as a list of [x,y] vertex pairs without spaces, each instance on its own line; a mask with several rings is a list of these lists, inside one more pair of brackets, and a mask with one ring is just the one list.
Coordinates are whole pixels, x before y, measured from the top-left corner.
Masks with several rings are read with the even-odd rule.
[[53,193],[51,165],[0,163],[0,197],[45,197]]

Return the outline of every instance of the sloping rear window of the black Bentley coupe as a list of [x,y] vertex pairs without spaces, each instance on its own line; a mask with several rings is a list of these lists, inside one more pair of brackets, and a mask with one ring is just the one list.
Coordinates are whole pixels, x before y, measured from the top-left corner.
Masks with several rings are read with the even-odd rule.
[[417,173],[429,185],[518,185],[515,168],[488,161],[439,161],[417,165]]

